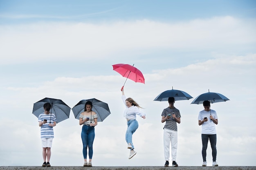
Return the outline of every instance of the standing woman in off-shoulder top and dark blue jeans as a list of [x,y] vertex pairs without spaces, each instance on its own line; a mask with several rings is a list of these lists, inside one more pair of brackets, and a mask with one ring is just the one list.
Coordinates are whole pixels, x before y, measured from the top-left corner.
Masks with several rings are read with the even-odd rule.
[[[95,133],[94,126],[97,125],[97,114],[92,111],[92,102],[85,103],[84,112],[79,115],[79,125],[83,125],[81,138],[83,141],[83,166],[92,166],[92,144],[94,141]],[[89,149],[89,163],[87,164],[87,147]]]

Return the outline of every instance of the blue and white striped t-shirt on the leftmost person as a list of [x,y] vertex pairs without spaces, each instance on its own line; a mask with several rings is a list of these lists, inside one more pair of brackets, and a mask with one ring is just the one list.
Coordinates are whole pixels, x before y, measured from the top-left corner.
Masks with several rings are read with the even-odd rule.
[[53,124],[56,121],[55,115],[53,113],[48,115],[42,113],[38,117],[38,122],[44,121],[44,119],[47,120],[47,123],[41,126],[41,138],[54,138],[53,127],[49,126],[49,123]]

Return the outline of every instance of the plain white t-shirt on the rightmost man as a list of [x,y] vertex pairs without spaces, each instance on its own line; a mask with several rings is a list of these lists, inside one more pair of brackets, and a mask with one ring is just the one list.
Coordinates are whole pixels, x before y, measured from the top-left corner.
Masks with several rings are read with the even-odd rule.
[[217,133],[215,128],[215,123],[210,119],[210,115],[212,115],[214,119],[218,119],[218,116],[215,110],[210,110],[210,111],[202,110],[199,112],[198,120],[202,121],[204,117],[207,117],[208,119],[208,121],[205,121],[202,124],[202,134],[214,135]]

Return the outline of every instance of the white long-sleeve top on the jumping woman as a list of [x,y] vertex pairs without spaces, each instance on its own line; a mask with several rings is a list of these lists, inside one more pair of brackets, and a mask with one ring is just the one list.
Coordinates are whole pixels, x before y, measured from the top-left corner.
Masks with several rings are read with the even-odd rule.
[[[122,100],[124,102],[124,105],[126,106],[126,104],[125,104],[126,96],[125,95],[122,95]],[[124,117],[126,119],[136,119],[136,115],[139,115],[140,117],[146,116],[146,114],[141,112],[141,110],[139,110],[139,108],[137,106],[131,106],[129,108],[126,106],[126,109],[124,110]]]

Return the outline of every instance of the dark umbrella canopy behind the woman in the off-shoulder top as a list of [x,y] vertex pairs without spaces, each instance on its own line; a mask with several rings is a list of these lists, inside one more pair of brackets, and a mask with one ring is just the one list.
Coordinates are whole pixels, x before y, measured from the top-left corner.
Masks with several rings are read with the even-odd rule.
[[92,102],[92,111],[94,111],[98,115],[98,121],[103,121],[104,119],[106,119],[106,117],[108,117],[108,115],[110,115],[108,104],[93,98],[93,99],[81,100],[78,104],[76,104],[72,108],[72,111],[76,119],[79,119],[79,115],[82,112],[84,112],[85,103],[88,101]]

